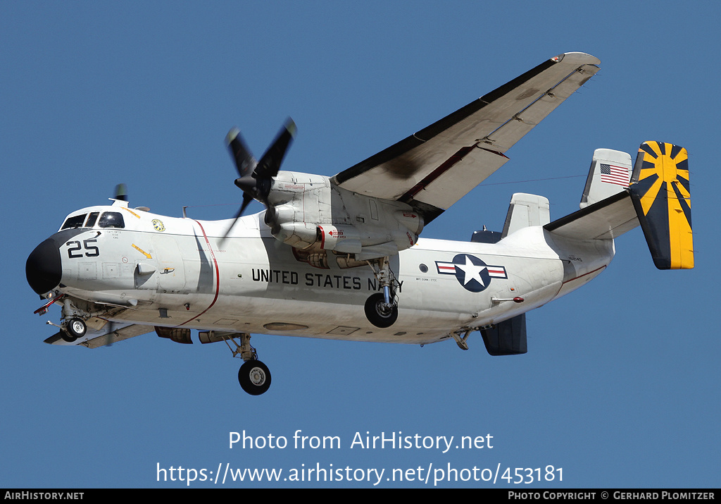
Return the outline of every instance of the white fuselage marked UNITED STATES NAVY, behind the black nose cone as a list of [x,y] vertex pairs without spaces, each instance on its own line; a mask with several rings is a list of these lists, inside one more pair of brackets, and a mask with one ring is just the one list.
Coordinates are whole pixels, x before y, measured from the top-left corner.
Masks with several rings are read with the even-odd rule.
[[[327,269],[299,260],[293,248],[273,238],[262,212],[243,217],[227,238],[221,237],[228,220],[164,217],[118,206],[74,214],[104,211],[122,212],[125,228],[95,227],[73,238],[94,240],[97,256],[68,252],[69,242],[63,244],[59,290],[97,303],[128,305],[131,309],[114,320],[153,326],[437,342],[565,295],[596,277],[614,256],[612,240],[567,240],[542,227],[523,228],[495,244],[422,238],[391,258],[401,282],[399,315],[394,325],[379,329],[363,311],[368,296],[379,290],[371,267],[342,269],[332,252]],[[466,290],[449,266],[458,254],[498,266],[500,274],[485,290]]]

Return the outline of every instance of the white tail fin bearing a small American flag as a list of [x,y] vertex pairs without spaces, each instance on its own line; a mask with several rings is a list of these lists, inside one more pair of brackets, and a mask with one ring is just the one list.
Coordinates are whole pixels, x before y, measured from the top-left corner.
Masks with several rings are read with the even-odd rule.
[[620,193],[629,186],[630,180],[631,155],[618,150],[596,149],[579,206],[583,209]]

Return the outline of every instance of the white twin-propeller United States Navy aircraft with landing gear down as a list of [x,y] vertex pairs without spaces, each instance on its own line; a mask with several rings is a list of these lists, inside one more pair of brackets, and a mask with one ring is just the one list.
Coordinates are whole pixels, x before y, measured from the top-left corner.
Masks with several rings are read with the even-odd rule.
[[[598,71],[565,53],[333,177],[280,171],[288,120],[256,160],[226,138],[243,191],[236,217],[202,221],[112,204],[68,215],[27,258],[27,281],[61,306],[50,344],[96,348],[156,332],[225,342],[249,394],[270,386],[250,334],[427,344],[480,331],[491,355],[526,352],[525,313],[609,265],[614,238],[641,225],[659,269],[694,265],[686,149],[597,149],[578,212],[513,194],[500,233],[419,239],[425,226],[506,161],[505,152]],[[265,205],[243,215],[252,200]],[[231,343],[233,346],[231,346]]]

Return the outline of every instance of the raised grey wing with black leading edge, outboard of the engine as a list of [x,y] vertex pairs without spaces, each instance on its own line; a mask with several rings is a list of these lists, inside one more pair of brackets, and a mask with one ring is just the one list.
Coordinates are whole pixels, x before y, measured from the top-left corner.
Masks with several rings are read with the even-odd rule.
[[430,222],[500,168],[513,144],[598,71],[565,53],[335,175],[342,188],[410,204]]

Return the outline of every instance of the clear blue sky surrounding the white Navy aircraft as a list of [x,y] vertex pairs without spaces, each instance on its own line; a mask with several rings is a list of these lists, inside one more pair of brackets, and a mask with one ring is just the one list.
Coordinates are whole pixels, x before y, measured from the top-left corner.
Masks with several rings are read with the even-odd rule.
[[[680,5],[0,3],[0,487],[185,486],[156,481],[157,464],[213,475],[219,464],[320,464],[386,476],[551,465],[562,482],[438,486],[718,487],[721,8]],[[239,388],[242,361],[222,344],[154,334],[95,350],[43,344],[59,310],[32,314],[40,302],[25,259],[66,214],[107,201],[115,184],[128,185],[131,206],[159,214],[180,216],[187,205],[193,217],[231,217],[242,197],[223,142],[231,126],[260,155],[292,116],[298,134],[283,168],[333,175],[566,51],[598,56],[601,71],[423,235],[500,230],[513,192],[547,196],[552,218],[562,217],[578,209],[594,149],[635,157],[658,139],[689,151],[694,270],[656,270],[641,231],[628,233],[598,279],[528,313],[528,354],[518,357],[490,357],[478,334],[468,352],[453,342],[254,336],[273,372],[259,397]],[[289,446],[230,449],[229,433],[243,430]],[[342,446],[293,448],[296,430]],[[350,448],[357,432],[492,435],[493,448]],[[433,475],[378,486],[430,487]]]

